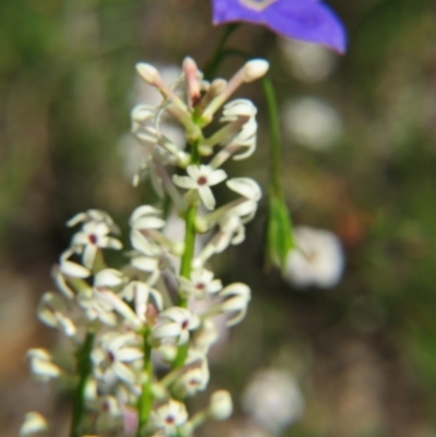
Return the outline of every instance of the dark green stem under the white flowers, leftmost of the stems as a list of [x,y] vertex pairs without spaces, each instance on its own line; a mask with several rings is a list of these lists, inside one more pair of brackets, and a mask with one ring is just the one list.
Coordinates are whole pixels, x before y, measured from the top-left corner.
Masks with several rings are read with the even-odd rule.
[[93,349],[94,333],[88,332],[85,341],[76,354],[77,373],[80,375],[77,386],[73,393],[73,416],[71,420],[70,437],[81,437],[80,426],[85,414],[86,381],[92,372],[90,351]]

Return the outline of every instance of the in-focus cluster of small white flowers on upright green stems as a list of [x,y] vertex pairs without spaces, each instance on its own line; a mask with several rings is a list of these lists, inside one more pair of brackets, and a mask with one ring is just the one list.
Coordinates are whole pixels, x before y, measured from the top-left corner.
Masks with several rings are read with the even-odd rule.
[[[215,278],[208,260],[243,241],[244,226],[262,195],[255,181],[229,179],[221,166],[255,150],[256,108],[250,100],[228,99],[267,69],[266,61],[254,60],[229,82],[209,83],[186,58],[180,78],[168,85],[154,66],[137,65],[162,101],[132,111],[133,135],[146,150],[134,183],[148,174],[156,192],[173,199],[185,221],[185,236],[172,241],[165,233],[162,211],[140,206],[130,218],[129,262],[116,269],[104,255],[106,250],[122,248],[119,229],[108,214],[89,209],[68,222],[78,229],[53,268],[58,292],[44,294],[38,316],[70,340],[77,357],[72,436],[190,436],[206,418],[231,414],[231,399],[223,390],[191,415],[184,399],[207,387],[207,353],[218,339],[216,317],[226,317],[228,326],[238,324],[251,299],[246,284],[222,284]],[[204,135],[221,108],[220,128]],[[174,144],[162,134],[165,118],[183,126],[186,144]],[[213,190],[225,181],[234,199],[217,207]],[[211,238],[195,254],[196,234],[205,232]],[[31,350],[28,360],[43,380],[65,375],[46,350]],[[21,435],[45,427],[33,412]]]

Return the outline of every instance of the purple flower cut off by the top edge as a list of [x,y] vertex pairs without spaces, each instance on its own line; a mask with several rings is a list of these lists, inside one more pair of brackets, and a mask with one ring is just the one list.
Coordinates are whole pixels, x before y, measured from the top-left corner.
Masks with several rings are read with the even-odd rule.
[[213,0],[214,24],[262,24],[289,38],[346,51],[347,37],[340,20],[318,0]]

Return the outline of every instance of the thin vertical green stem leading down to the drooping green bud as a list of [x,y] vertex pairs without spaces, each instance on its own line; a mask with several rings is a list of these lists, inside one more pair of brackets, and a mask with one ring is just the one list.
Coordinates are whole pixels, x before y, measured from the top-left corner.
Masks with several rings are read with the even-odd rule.
[[281,183],[281,157],[280,157],[280,121],[277,110],[276,93],[269,75],[263,78],[264,93],[269,114],[269,129],[270,129],[270,157],[271,157],[271,179],[270,190],[271,194],[283,197],[283,187]]

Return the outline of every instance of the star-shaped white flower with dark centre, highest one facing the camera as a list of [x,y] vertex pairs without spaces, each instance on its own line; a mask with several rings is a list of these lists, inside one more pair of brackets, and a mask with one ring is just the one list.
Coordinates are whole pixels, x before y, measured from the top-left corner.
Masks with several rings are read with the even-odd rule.
[[187,177],[180,177],[178,174],[172,177],[175,185],[186,190],[196,190],[205,207],[214,209],[215,197],[210,186],[222,182],[227,178],[227,173],[221,169],[214,170],[211,167],[204,165],[199,167],[194,165],[187,166],[186,172]]

